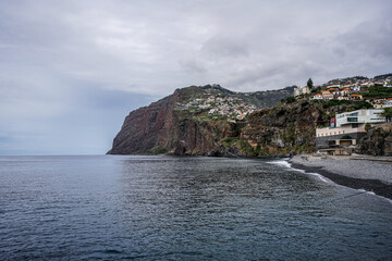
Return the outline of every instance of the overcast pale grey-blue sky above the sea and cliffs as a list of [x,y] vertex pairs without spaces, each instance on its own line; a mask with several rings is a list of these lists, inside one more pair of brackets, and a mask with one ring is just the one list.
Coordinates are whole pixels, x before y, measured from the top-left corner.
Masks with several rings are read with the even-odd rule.
[[0,0],[0,154],[103,154],[176,88],[392,73],[392,1]]

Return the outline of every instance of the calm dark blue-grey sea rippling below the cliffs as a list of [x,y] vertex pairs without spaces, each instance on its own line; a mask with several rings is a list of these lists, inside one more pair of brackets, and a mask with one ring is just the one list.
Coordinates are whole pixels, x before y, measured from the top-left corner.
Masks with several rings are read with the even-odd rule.
[[277,160],[0,157],[0,260],[392,260],[391,201],[357,192]]

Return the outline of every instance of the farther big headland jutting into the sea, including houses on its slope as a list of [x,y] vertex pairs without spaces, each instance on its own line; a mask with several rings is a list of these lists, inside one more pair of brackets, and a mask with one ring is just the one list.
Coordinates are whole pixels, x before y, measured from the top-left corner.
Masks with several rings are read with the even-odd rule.
[[246,154],[248,146],[241,140],[245,116],[291,94],[291,87],[247,94],[219,85],[176,89],[131,112],[108,153]]

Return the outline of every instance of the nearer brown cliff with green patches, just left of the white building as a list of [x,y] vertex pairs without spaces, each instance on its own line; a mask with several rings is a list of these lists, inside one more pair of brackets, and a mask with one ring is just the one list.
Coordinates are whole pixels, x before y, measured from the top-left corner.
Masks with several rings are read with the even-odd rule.
[[316,122],[321,114],[321,109],[308,101],[260,110],[248,116],[241,139],[260,156],[313,152]]

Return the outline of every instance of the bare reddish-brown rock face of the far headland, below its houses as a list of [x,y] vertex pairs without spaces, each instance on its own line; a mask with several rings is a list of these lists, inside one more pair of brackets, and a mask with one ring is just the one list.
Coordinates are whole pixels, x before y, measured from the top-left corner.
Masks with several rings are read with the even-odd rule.
[[237,125],[228,121],[200,121],[174,110],[181,101],[176,90],[148,107],[131,112],[113,140],[110,154],[147,153],[164,148],[172,154],[224,154],[219,141],[238,136]]

